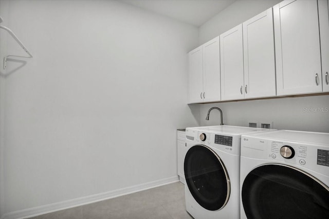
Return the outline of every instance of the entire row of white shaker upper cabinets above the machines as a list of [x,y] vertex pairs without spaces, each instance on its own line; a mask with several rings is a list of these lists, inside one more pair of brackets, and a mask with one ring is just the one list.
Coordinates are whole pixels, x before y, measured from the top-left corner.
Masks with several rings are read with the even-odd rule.
[[329,92],[328,1],[285,0],[191,51],[189,103]]

